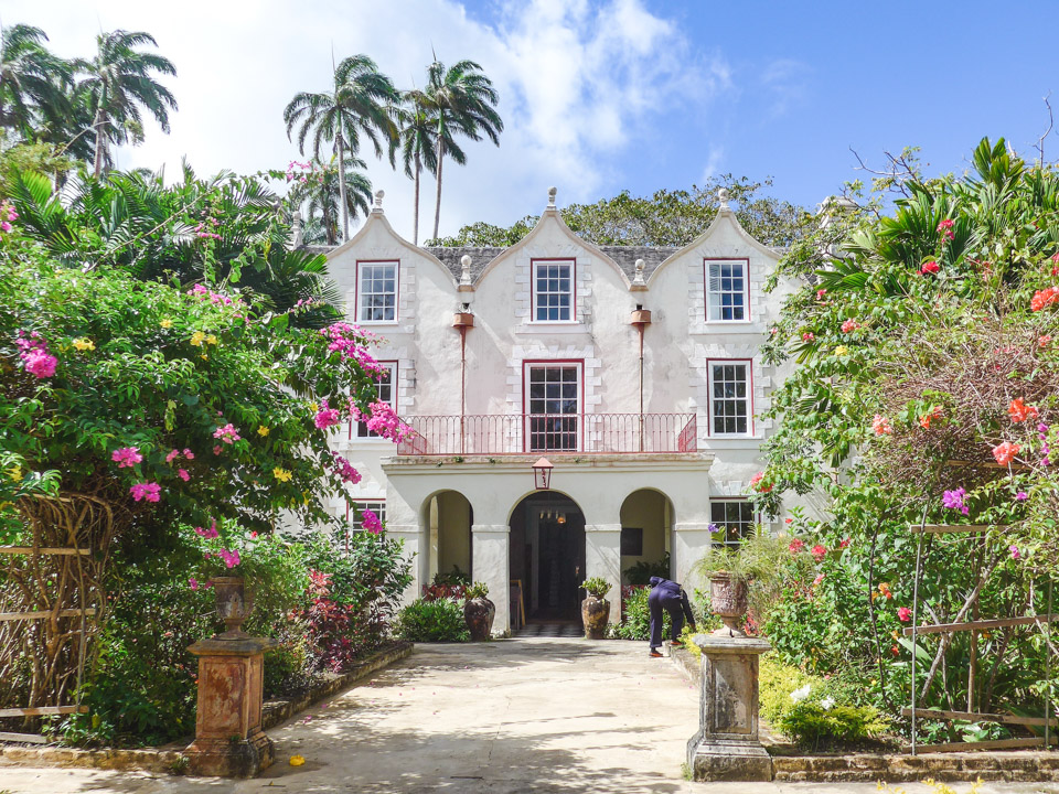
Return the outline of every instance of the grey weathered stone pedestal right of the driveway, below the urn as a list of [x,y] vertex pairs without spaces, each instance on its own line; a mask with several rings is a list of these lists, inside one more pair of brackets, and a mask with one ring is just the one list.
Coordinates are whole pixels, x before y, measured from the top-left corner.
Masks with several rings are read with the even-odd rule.
[[771,645],[724,631],[695,635],[703,675],[687,765],[696,781],[769,781],[772,759],[758,741],[758,658]]

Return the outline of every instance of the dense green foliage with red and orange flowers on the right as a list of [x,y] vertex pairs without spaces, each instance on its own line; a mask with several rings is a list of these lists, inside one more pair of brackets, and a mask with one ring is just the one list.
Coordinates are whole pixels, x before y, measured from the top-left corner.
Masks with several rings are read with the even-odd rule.
[[[781,262],[778,278],[805,286],[766,356],[800,366],[772,400],[779,430],[759,501],[777,512],[782,494],[817,489],[832,517],[792,527],[823,551],[817,579],[788,580],[766,631],[787,661],[859,670],[897,719],[912,653],[921,706],[1039,713],[1052,697],[1047,630],[1002,625],[917,647],[900,630],[1048,609],[1059,564],[1059,173],[1003,140],[983,140],[963,176],[928,180],[901,162],[910,167],[868,197],[851,185],[853,201],[830,205]],[[890,212],[882,191],[896,193]],[[987,528],[916,533],[924,524]]]

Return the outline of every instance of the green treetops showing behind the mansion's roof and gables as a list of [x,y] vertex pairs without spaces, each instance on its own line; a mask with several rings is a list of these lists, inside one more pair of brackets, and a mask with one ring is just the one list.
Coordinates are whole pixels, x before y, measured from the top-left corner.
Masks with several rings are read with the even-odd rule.
[[[769,246],[790,246],[814,230],[816,222],[804,208],[769,195],[771,180],[752,182],[724,174],[691,190],[659,190],[634,196],[622,191],[593,204],[570,204],[559,212],[570,229],[592,245],[631,245],[680,248],[705,232],[717,215],[717,191],[728,191],[736,217],[755,239]],[[527,215],[510,227],[475,223],[443,246],[510,246],[525,237],[539,216]]]

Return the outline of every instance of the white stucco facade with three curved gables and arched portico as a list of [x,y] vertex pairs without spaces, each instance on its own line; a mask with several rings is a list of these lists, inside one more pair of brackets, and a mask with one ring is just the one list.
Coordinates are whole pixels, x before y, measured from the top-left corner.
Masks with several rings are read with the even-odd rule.
[[[576,262],[574,322],[531,322],[531,262],[545,258]],[[748,260],[748,320],[706,321],[704,260],[710,258]],[[688,575],[709,543],[710,498],[746,496],[750,479],[763,466],[759,448],[771,429],[766,420],[756,417],[746,437],[709,434],[708,366],[713,360],[749,360],[752,411],[759,415],[768,407],[772,388],[785,375],[764,366],[758,353],[784,297],[783,289],[763,291],[778,261],[774,251],[750,238],[735,215],[723,210],[698,239],[651,273],[645,288],[637,288],[614,261],[570,233],[549,206],[530,235],[488,265],[473,290],[460,291],[445,265],[402,239],[377,207],[349,243],[329,255],[329,269],[343,291],[351,322],[356,322],[357,262],[364,260],[399,261],[396,322],[359,324],[378,334],[376,357],[396,362],[396,409],[405,417],[460,415],[460,333],[452,328],[452,318],[462,302],[470,302],[474,314],[474,326],[467,332],[468,415],[521,416],[523,363],[567,360],[584,363],[582,412],[638,414],[639,337],[630,314],[638,304],[651,310],[652,323],[644,332],[644,412],[697,412],[699,453],[567,455],[559,462],[549,454],[557,462],[553,487],[574,498],[585,514],[588,576],[605,576],[614,584],[622,567],[622,502],[639,489],[657,489],[673,505],[668,538],[673,575],[678,580]],[[438,543],[435,537],[431,544],[425,505],[442,490],[468,498],[474,577],[490,583],[498,604],[496,629],[503,631],[507,526],[515,504],[532,491],[530,465],[536,455],[448,459],[439,465],[434,460],[397,458],[386,441],[351,440],[347,429],[335,434],[334,446],[363,474],[349,498],[385,497],[388,530],[419,556],[409,596],[438,570]],[[344,513],[342,496],[335,497],[334,509]],[[612,618],[618,618],[617,609]]]

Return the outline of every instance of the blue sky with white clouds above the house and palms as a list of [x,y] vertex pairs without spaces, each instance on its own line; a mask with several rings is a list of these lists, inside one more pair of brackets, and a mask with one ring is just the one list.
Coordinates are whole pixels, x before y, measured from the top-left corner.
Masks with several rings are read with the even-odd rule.
[[[180,111],[170,136],[149,129],[118,159],[171,173],[182,155],[201,172],[299,157],[282,107],[327,86],[332,45],[374,56],[399,86],[421,84],[431,45],[478,60],[506,130],[499,150],[472,144],[466,168],[447,169],[442,234],[539,212],[552,184],[560,203],[585,202],[730,172],[814,205],[858,175],[851,147],[880,165],[918,146],[930,172],[962,170],[983,135],[1031,154],[1041,98],[1059,92],[1053,2],[8,0],[14,21],[67,56],[90,53],[100,28],[152,32],[176,64]],[[1059,158],[1055,132],[1046,154]],[[410,235],[410,182],[377,162],[370,175]],[[432,217],[432,181],[422,190]]]

